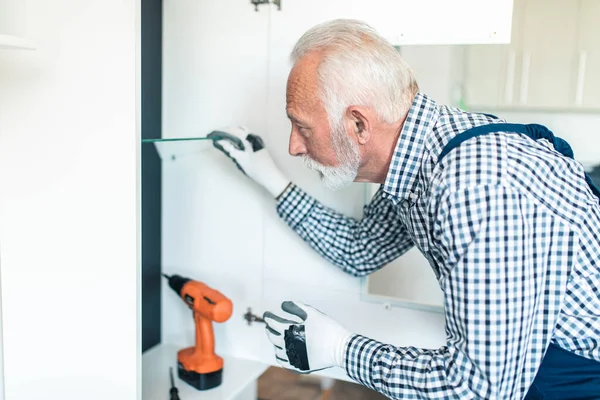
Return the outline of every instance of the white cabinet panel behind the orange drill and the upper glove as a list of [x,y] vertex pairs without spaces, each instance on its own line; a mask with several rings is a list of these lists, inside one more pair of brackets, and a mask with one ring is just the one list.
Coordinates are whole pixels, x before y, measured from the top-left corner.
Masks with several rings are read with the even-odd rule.
[[[205,136],[230,125],[264,132],[271,7],[256,12],[237,0],[163,4],[163,137]],[[273,203],[211,143],[189,145],[197,151],[163,158],[163,272],[228,296],[234,314],[214,324],[217,352],[257,358],[264,332],[243,315],[248,307],[261,312],[263,214]],[[166,283],[162,300],[162,342],[194,343],[189,309]]]

